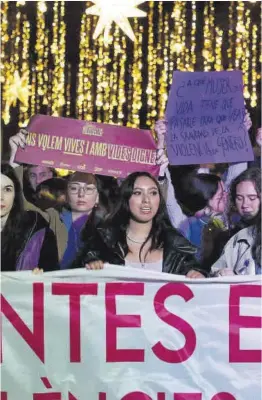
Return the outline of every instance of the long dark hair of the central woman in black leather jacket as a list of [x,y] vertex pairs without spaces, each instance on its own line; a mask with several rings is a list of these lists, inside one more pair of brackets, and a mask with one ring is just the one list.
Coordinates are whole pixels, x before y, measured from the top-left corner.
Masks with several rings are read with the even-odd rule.
[[159,196],[160,202],[156,215],[153,218],[152,228],[145,242],[140,249],[141,252],[144,245],[152,240],[149,251],[161,248],[164,241],[164,230],[166,227],[171,227],[171,223],[168,218],[165,200],[160,190],[160,186],[157,180],[150,175],[148,172],[134,172],[130,174],[121,184],[118,201],[115,204],[115,210],[109,214],[103,226],[110,230],[113,230],[116,235],[116,240],[121,244],[125,255],[128,253],[128,245],[126,241],[126,231],[131,219],[131,210],[129,206],[129,200],[133,194],[135,181],[140,177],[147,177],[152,179],[155,183]]

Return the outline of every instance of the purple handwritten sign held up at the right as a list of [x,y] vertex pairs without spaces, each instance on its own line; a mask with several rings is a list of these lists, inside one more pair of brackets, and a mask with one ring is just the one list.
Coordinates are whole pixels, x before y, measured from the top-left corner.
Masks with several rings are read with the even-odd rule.
[[241,71],[174,72],[166,109],[170,164],[254,159]]

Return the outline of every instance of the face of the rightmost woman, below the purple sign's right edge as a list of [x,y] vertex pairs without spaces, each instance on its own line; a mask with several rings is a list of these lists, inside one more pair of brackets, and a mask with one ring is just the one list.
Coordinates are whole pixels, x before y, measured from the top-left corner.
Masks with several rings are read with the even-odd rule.
[[257,215],[260,198],[252,181],[240,182],[236,187],[236,208],[241,217],[251,219]]

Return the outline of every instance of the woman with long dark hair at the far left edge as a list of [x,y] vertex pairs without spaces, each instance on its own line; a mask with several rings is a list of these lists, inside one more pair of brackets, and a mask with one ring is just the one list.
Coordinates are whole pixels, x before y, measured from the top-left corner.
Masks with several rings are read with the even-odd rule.
[[1,269],[2,271],[55,270],[57,245],[43,217],[25,211],[20,183],[8,164],[1,164]]

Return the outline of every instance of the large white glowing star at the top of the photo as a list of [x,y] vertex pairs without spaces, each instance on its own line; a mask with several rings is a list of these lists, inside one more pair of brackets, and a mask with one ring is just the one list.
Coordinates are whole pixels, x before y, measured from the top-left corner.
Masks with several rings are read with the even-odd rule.
[[136,8],[138,4],[144,3],[143,1],[136,0],[97,0],[93,1],[94,6],[86,10],[87,15],[98,15],[99,20],[93,35],[96,39],[103,30],[104,41],[109,42],[109,31],[113,22],[131,39],[135,40],[134,32],[128,21],[128,17],[145,17],[147,14],[144,11]]

